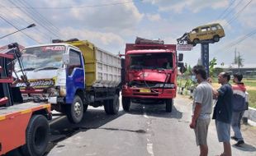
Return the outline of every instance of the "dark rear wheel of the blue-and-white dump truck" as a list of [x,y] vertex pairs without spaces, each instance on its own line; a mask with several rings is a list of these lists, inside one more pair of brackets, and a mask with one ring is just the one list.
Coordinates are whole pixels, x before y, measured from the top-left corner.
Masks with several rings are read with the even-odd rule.
[[114,99],[107,100],[107,103],[104,104],[105,112],[107,114],[117,114],[119,106],[119,96],[115,94]]

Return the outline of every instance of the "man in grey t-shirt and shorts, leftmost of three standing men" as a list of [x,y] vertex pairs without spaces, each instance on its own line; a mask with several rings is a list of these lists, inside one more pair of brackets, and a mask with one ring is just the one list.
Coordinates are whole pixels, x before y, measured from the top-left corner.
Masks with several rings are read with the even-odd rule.
[[190,127],[195,130],[197,145],[200,146],[200,156],[206,156],[208,154],[207,132],[212,112],[212,88],[206,80],[205,67],[198,65],[193,67],[192,71],[199,85],[194,94]]

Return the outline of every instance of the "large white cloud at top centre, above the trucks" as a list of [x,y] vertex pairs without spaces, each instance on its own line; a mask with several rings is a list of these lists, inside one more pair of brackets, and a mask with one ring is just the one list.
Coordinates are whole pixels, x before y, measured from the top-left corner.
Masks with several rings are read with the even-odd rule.
[[[75,23],[77,25],[83,25],[86,28],[104,30],[129,29],[138,24],[144,16],[135,7],[133,2],[104,7],[97,6],[111,4],[111,2],[107,0],[97,2],[92,0],[69,2],[69,5],[63,4],[63,1],[57,1],[52,4],[50,0],[45,0],[43,3],[45,7],[73,6],[71,9],[45,11],[46,16],[50,16],[50,14],[55,12],[55,16],[51,16],[52,20],[60,24],[73,26],[72,24]],[[38,3],[36,4],[36,6],[39,5]]]

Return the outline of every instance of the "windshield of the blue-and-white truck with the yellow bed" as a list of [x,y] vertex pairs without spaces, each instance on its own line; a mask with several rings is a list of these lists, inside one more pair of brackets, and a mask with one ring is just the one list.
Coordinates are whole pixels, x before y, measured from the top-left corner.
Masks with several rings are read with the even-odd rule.
[[[24,70],[58,69],[62,66],[62,54],[64,51],[64,46],[26,48],[22,51],[21,56]],[[21,70],[18,63],[15,63],[15,70]]]

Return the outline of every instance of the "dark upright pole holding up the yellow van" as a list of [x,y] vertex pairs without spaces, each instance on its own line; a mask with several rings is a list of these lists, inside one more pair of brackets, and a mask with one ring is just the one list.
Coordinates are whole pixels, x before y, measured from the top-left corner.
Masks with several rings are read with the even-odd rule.
[[201,65],[206,68],[206,76],[209,77],[209,43],[201,44]]

